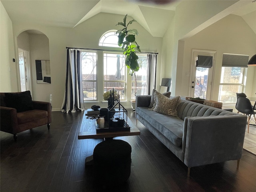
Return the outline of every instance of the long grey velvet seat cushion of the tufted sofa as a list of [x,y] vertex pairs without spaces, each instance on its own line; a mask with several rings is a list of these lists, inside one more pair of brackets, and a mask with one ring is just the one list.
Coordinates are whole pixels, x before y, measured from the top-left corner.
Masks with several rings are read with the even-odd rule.
[[175,116],[156,113],[147,107],[138,107],[136,112],[172,144],[177,147],[182,145],[183,120]]

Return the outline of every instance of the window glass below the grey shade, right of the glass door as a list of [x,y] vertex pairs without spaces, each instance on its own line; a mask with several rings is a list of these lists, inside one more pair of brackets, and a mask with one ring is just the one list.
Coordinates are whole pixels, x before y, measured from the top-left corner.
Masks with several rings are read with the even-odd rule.
[[220,80],[219,101],[223,103],[236,103],[236,93],[244,92],[243,67],[222,67]]

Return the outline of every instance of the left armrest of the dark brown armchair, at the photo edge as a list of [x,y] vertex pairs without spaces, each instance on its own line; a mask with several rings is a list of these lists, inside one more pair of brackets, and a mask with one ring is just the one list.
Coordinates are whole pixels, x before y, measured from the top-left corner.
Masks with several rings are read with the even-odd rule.
[[15,108],[0,106],[1,131],[16,134],[18,133],[18,117]]

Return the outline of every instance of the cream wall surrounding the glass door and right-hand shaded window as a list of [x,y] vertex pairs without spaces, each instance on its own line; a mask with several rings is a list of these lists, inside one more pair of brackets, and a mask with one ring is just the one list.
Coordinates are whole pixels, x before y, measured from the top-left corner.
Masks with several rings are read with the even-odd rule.
[[[245,54],[251,57],[256,53],[256,34],[240,16],[229,15],[186,39],[183,72],[180,78],[182,89],[177,89],[178,95],[190,96],[190,77],[185,74],[191,69],[192,49],[217,51],[212,100],[218,100],[223,53]],[[245,92],[248,96],[251,95],[254,70],[255,67],[250,66],[247,72]]]

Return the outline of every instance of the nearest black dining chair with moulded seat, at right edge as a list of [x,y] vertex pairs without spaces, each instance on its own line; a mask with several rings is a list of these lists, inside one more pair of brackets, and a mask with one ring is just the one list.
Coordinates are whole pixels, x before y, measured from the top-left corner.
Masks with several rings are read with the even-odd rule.
[[236,102],[236,110],[238,110],[238,112],[241,112],[242,114],[246,114],[248,116],[247,130],[249,133],[249,123],[250,123],[250,119],[251,119],[252,115],[254,116],[254,120],[256,122],[255,112],[252,108],[252,104],[251,104],[250,100],[248,98],[238,96],[237,102]]

